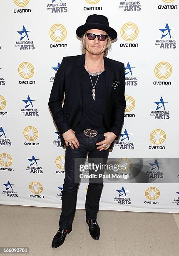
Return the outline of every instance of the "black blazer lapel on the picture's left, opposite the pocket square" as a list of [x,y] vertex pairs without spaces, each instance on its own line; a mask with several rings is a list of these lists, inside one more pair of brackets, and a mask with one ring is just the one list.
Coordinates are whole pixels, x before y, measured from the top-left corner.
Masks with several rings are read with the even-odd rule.
[[84,68],[85,68],[85,54],[82,54],[80,55],[75,66],[76,86],[77,86],[77,92],[78,92],[81,108],[82,108],[82,83],[83,83]]

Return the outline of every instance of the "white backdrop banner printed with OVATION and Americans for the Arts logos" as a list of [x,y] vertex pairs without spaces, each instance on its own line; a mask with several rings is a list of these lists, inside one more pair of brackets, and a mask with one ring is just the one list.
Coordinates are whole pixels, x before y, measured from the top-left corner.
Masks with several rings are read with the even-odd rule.
[[62,58],[81,54],[77,27],[96,13],[118,33],[107,57],[125,65],[127,102],[109,152],[126,168],[106,178],[100,209],[179,212],[178,1],[8,0],[0,10],[0,203],[61,207],[65,148],[48,100]]

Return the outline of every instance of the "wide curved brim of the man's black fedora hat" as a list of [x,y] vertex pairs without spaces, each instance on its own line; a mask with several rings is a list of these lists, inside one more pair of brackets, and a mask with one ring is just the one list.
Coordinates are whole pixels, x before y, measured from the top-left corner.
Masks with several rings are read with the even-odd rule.
[[100,29],[105,31],[108,36],[114,40],[117,38],[117,32],[114,30],[114,28],[111,28],[109,26],[105,26],[99,23],[90,23],[90,24],[84,24],[77,28],[76,34],[78,37],[82,38],[82,36],[85,34],[86,31],[89,29]]

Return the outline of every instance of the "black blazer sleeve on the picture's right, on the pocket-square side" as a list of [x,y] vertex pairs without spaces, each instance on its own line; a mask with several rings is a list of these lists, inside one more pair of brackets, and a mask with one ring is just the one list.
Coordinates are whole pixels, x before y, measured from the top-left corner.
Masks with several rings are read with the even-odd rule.
[[124,110],[126,108],[126,100],[125,100],[125,69],[124,64],[122,68],[122,75],[119,83],[119,87],[117,88],[117,95],[114,102],[114,107],[112,110],[112,125],[109,131],[113,132],[118,139],[121,134],[122,125],[124,123]]

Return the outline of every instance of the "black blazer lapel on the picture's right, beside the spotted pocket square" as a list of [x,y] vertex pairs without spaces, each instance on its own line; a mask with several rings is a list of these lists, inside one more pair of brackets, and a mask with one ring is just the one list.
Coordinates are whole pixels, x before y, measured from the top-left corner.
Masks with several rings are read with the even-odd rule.
[[107,101],[109,99],[109,95],[112,90],[112,83],[114,80],[114,70],[112,69],[109,60],[104,57],[104,70],[105,70],[105,78],[106,78],[106,87],[105,87],[105,100],[103,104],[103,113],[106,108]]

